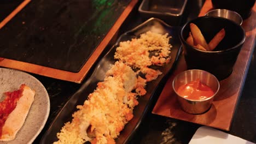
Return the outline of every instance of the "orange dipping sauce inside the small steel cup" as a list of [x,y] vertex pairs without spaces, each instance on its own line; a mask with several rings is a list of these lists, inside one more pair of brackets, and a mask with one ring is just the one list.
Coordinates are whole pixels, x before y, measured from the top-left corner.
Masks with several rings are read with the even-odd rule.
[[192,100],[203,100],[212,97],[214,92],[210,87],[201,83],[200,79],[191,81],[178,88],[177,93],[184,98]]

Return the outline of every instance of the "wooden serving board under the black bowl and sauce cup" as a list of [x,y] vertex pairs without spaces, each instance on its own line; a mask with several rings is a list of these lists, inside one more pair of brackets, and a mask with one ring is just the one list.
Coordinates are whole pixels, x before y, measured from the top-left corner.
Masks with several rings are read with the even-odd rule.
[[[210,9],[212,9],[212,3],[211,0],[207,0],[203,5],[199,16],[205,15],[205,13]],[[213,105],[209,111],[202,115],[191,115],[181,110],[176,94],[173,92],[172,88],[172,81],[174,77],[182,71],[187,70],[184,56],[181,56],[177,63],[176,70],[174,70],[174,73],[168,78],[152,113],[227,131],[230,130],[237,101],[240,97],[240,93],[242,92],[243,83],[246,79],[255,46],[255,20],[256,5],[253,7],[251,16],[243,21],[242,27],[246,32],[246,40],[240,54],[238,55],[232,74],[227,79],[220,81],[219,92],[216,95]]]

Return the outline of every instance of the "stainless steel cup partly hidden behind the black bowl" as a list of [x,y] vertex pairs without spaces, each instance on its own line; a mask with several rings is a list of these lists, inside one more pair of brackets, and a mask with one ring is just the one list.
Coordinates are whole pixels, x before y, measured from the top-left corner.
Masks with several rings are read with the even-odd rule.
[[208,11],[205,15],[206,16],[224,17],[225,19],[229,19],[231,21],[236,22],[238,25],[242,25],[242,23],[243,23],[243,19],[240,16],[240,14],[238,14],[232,10],[214,9],[214,10]]

